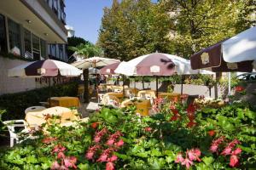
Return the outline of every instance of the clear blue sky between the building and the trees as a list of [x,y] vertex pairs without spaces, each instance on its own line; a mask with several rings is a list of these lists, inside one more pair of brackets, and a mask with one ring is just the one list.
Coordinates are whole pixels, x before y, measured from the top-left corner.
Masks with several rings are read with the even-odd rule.
[[66,21],[73,26],[76,37],[96,43],[102,23],[103,8],[112,0],[66,0]]

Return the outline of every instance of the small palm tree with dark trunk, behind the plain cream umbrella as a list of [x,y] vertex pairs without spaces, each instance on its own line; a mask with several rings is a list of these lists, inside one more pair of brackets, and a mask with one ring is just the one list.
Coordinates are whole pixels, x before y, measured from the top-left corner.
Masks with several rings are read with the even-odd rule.
[[[75,52],[80,57],[86,59],[93,56],[102,55],[102,49],[88,42],[86,44],[79,44],[76,47],[69,47],[70,50]],[[89,103],[89,70],[84,69],[84,103]]]

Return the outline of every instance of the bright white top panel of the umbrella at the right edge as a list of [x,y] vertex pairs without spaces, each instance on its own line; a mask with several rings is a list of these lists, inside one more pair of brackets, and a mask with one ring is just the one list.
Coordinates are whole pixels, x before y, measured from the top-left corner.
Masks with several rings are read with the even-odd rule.
[[256,26],[224,41],[222,50],[226,62],[256,60]]

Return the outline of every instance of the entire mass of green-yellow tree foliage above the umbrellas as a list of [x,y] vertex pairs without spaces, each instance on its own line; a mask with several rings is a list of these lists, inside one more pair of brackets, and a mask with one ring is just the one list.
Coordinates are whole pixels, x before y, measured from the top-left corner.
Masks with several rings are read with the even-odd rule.
[[196,51],[255,24],[253,0],[113,1],[104,9],[98,44],[108,58]]

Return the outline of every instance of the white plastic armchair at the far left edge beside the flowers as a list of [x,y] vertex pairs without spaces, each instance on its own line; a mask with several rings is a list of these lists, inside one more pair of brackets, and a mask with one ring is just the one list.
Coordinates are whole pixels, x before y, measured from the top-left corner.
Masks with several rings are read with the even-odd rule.
[[[15,124],[19,123],[19,124]],[[24,130],[21,132],[27,132],[27,123],[24,120],[13,120],[13,121],[4,121],[3,124],[5,124],[8,127],[9,130],[9,137],[10,137],[10,147],[13,147],[16,141],[16,144],[19,144],[20,142],[20,136],[18,132],[15,132],[15,127],[24,127]]]

